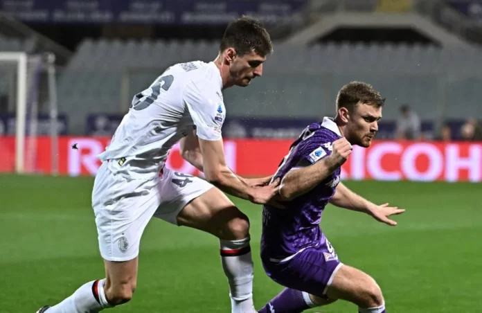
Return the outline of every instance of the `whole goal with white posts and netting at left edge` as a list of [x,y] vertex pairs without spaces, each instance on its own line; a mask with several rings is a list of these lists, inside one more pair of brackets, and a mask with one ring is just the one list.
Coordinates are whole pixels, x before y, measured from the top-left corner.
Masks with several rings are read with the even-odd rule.
[[[0,52],[0,136],[15,138],[15,147],[0,147],[2,170],[39,172],[38,136],[51,136],[52,174],[57,172],[57,104],[54,57]],[[39,128],[39,116],[50,129]],[[10,137],[10,138],[9,138]],[[12,141],[3,141],[3,144]],[[9,153],[6,153],[8,150]]]

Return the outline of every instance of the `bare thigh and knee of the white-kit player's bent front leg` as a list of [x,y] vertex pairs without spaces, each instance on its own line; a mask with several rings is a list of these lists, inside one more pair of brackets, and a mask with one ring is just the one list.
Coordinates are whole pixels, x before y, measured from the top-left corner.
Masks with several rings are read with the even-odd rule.
[[215,187],[184,206],[177,215],[177,224],[206,231],[222,240],[241,240],[249,233],[248,217]]

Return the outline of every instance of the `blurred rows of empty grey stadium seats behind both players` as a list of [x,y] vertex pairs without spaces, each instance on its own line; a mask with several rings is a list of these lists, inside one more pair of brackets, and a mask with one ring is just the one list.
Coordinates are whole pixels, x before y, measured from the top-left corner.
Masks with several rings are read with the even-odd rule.
[[[216,53],[217,42],[85,40],[60,76],[60,111],[69,112],[71,132],[81,133],[87,111],[118,114],[129,105],[121,102],[130,102],[170,64],[210,61]],[[389,99],[389,116],[398,114],[401,103],[410,103],[421,118],[434,118],[440,114],[440,101],[445,101],[464,107],[461,111],[448,106],[445,115],[465,118],[481,110],[481,64],[482,54],[474,49],[391,44],[276,46],[263,77],[249,89],[226,90],[226,105],[232,116],[329,114],[334,91],[350,80],[365,80]],[[122,98],[125,75],[128,92]]]

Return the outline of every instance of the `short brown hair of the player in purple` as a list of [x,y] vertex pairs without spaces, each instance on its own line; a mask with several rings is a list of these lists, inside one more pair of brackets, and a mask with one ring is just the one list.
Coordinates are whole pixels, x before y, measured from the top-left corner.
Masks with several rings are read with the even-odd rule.
[[383,107],[385,98],[382,98],[371,84],[366,84],[365,82],[350,82],[341,87],[337,96],[337,109],[346,107],[351,111],[359,102],[375,107]]

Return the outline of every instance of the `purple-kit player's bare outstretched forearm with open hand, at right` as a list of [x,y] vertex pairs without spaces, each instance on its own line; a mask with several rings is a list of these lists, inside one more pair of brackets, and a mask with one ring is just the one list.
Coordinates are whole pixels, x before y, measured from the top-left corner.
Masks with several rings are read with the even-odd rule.
[[330,204],[340,208],[347,208],[348,210],[358,211],[371,215],[375,220],[384,222],[391,226],[395,226],[397,222],[390,220],[389,216],[404,213],[404,209],[391,207],[389,204],[382,204],[377,206],[373,202],[368,201],[364,197],[353,193],[344,184],[339,183],[334,196],[330,200]]

